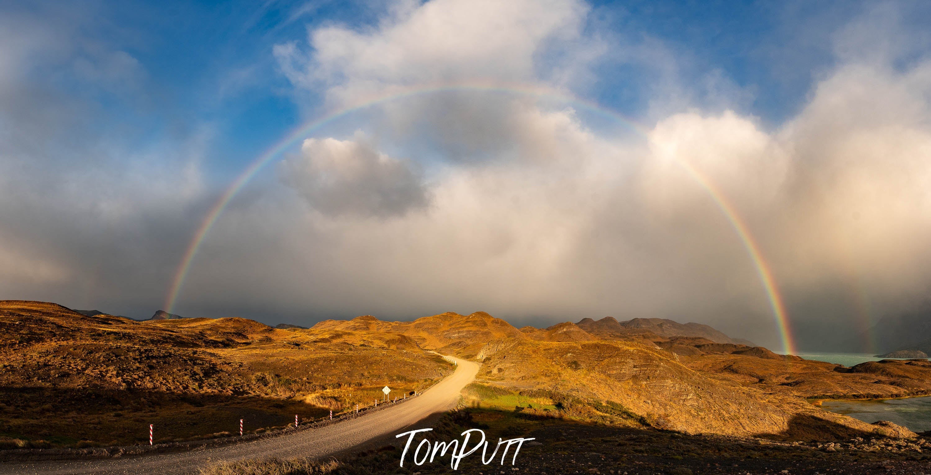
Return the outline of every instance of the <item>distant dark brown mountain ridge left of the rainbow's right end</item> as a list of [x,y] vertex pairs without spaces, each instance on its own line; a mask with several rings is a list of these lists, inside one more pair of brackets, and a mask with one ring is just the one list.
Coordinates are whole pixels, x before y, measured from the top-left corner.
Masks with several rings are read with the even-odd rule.
[[618,322],[613,317],[604,317],[598,321],[586,318],[576,323],[576,325],[592,335],[599,336],[611,336],[612,334],[616,336],[661,336],[664,338],[691,336],[708,338],[715,343],[754,346],[747,340],[731,338],[705,324],[679,323],[665,318],[635,318],[627,320],[627,322]]

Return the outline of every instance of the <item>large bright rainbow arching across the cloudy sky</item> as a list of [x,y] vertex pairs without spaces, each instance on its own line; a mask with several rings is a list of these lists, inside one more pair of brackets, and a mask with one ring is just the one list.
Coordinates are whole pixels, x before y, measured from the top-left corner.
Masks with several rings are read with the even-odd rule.
[[[359,101],[355,105],[327,113],[322,117],[312,120],[304,125],[298,126],[283,139],[279,140],[275,145],[260,155],[242,172],[241,175],[239,175],[238,178],[233,180],[226,191],[223,191],[223,194],[220,196],[217,202],[209,209],[209,212],[204,217],[204,220],[201,222],[200,226],[194,233],[194,237],[191,240],[191,243],[188,244],[187,249],[184,251],[181,263],[175,272],[168,296],[165,300],[166,311],[171,313],[174,309],[175,302],[178,300],[178,297],[181,294],[184,280],[187,277],[188,271],[191,269],[191,263],[194,261],[194,257],[197,254],[197,249],[200,247],[200,244],[203,243],[204,238],[207,236],[210,229],[217,222],[217,219],[220,218],[220,215],[223,214],[223,210],[233,200],[233,198],[236,196],[236,193],[242,190],[242,188],[263,168],[264,165],[267,165],[282,152],[285,152],[301,139],[304,139],[311,133],[317,131],[317,129],[325,125],[329,125],[352,112],[358,112],[393,100],[453,91],[517,94],[520,96],[529,96],[538,99],[555,99],[563,103],[573,104],[573,106],[584,109],[587,112],[594,112],[595,114],[606,117],[614,122],[627,125],[630,129],[634,130],[643,137],[645,137],[647,134],[646,127],[637,125],[618,112],[604,108],[595,102],[574,98],[566,95],[561,91],[538,86],[501,86],[494,84],[474,83],[442,86],[420,86],[416,88],[395,91],[393,94]],[[746,224],[739,218],[739,215],[736,213],[734,206],[727,201],[720,190],[713,186],[710,180],[705,178],[692,165],[684,163],[680,160],[677,160],[676,162],[684,166],[689,175],[695,178],[696,182],[699,183],[702,188],[708,191],[708,194],[711,196],[715,204],[721,208],[724,217],[727,218],[727,220],[730,221],[731,225],[734,227],[734,230],[736,231],[741,242],[744,244],[744,247],[746,247],[749,256],[753,260],[754,266],[756,267],[757,273],[760,276],[763,289],[766,292],[770,307],[772,308],[774,317],[776,319],[777,330],[780,337],[782,338],[783,350],[788,354],[795,353],[795,344],[794,340],[792,339],[792,334],[789,327],[789,319],[786,314],[783,299],[778,292],[778,287],[776,286],[776,282],[773,279],[772,271],[766,264],[766,260],[762,257],[759,245],[756,244],[756,242],[752,239],[752,235],[750,234]]]

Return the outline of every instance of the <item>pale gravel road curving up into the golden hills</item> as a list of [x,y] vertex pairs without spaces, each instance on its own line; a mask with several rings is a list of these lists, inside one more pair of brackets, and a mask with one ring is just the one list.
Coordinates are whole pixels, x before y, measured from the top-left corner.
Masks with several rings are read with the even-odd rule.
[[[479,364],[448,357],[458,363],[451,376],[424,391],[413,401],[367,416],[320,429],[255,442],[174,454],[145,455],[104,460],[60,460],[0,464],[0,474],[196,474],[197,468],[220,460],[242,458],[332,455],[360,443],[398,433],[427,416],[455,407],[459,391],[475,379]],[[420,428],[418,428],[420,429]]]

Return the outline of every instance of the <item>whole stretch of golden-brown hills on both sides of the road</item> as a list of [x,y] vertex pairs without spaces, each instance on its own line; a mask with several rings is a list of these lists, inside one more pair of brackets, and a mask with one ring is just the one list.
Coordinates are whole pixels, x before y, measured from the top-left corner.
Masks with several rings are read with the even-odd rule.
[[681,328],[663,321],[670,335],[644,326],[618,333],[604,319],[595,323],[608,329],[591,333],[582,323],[517,329],[485,312],[447,312],[278,329],[241,318],[136,322],[0,301],[0,433],[126,443],[145,437],[141,428],[150,423],[167,428],[161,433],[171,440],[234,429],[240,417],[253,428],[283,425],[294,414],[370,403],[385,385],[398,393],[424,389],[452,370],[432,350],[482,362],[469,396],[483,402],[514,408],[533,400],[528,411],[539,415],[691,433],[817,439],[889,432],[805,398],[931,392],[928,363],[841,368],[674,336]]

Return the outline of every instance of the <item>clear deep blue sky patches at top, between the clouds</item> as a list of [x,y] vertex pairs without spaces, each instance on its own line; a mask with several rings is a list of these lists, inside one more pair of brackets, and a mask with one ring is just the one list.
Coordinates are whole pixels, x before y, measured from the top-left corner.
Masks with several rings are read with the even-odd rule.
[[[295,100],[272,48],[301,42],[319,25],[371,28],[389,6],[320,1],[87,2],[63,11],[57,3],[8,7],[34,19],[76,22],[84,39],[137,59],[144,79],[135,92],[142,97],[68,91],[75,87],[70,65],[49,69],[65,94],[86,94],[108,118],[143,129],[143,143],[209,127],[209,170],[223,182],[292,127],[322,113],[312,94]],[[592,8],[587,28],[618,45],[651,42],[667,48],[682,80],[720,74],[746,91],[745,99],[729,105],[774,124],[798,111],[816,74],[834,61],[830,33],[865,9],[852,2],[603,2]],[[650,85],[661,72],[643,59],[607,56],[586,96],[643,117]]]

